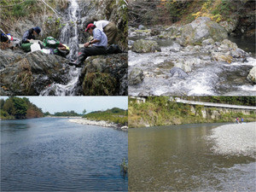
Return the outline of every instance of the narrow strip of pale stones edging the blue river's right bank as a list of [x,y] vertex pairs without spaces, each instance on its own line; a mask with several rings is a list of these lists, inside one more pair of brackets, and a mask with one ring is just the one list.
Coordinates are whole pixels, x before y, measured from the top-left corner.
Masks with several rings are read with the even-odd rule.
[[97,125],[97,126],[104,126],[104,127],[112,127],[114,129],[121,130],[121,131],[128,131],[127,126],[120,127],[117,124],[108,123],[107,121],[104,121],[104,120],[96,121],[96,120],[89,120],[85,118],[79,118],[79,119],[69,119],[68,121],[77,123],[77,124],[82,124],[82,125]]

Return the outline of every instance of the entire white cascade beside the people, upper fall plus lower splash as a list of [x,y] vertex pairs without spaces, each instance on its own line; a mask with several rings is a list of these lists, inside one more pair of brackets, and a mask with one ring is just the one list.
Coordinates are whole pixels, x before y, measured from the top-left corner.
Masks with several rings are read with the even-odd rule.
[[[75,59],[79,52],[79,33],[77,21],[80,18],[79,4],[77,0],[69,0],[70,5],[67,9],[67,23],[61,30],[60,41],[62,44],[67,44],[70,49],[68,59]],[[41,96],[75,96],[76,84],[79,80],[80,68],[70,67],[67,73],[68,84],[50,84],[48,88],[41,91]]]

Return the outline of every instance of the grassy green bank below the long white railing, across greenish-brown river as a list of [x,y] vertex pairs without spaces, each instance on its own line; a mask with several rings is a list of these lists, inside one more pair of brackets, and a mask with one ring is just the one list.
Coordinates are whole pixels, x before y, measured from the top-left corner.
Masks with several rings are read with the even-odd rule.
[[193,107],[168,99],[167,96],[154,96],[148,97],[144,103],[137,103],[135,99],[129,98],[129,127],[232,122],[236,117],[243,117],[245,121],[256,119],[253,111],[245,114],[239,110],[204,108],[199,105]]

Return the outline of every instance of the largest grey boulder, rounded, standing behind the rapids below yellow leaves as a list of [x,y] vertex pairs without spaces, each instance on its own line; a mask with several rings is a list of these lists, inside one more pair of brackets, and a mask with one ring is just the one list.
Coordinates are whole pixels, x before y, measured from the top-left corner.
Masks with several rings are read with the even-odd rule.
[[212,38],[222,41],[228,37],[226,30],[208,17],[199,17],[193,22],[183,26],[180,43],[182,45],[201,44],[203,40]]

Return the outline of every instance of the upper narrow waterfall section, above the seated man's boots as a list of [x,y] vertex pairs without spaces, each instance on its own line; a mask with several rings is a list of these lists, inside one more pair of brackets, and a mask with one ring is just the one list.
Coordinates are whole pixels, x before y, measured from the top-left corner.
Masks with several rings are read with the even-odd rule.
[[61,30],[61,43],[67,44],[70,49],[69,59],[75,59],[79,52],[79,34],[77,21],[80,18],[79,4],[77,0],[69,0],[67,9],[67,23]]

